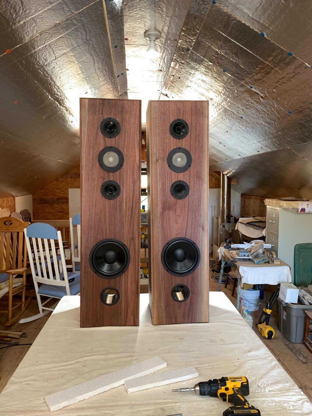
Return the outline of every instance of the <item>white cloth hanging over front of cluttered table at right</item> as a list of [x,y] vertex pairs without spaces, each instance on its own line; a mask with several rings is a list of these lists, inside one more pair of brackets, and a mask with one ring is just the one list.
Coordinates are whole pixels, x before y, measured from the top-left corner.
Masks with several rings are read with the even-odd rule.
[[292,276],[287,265],[248,267],[238,266],[241,275],[241,283],[249,285],[278,285],[279,283],[291,283]]

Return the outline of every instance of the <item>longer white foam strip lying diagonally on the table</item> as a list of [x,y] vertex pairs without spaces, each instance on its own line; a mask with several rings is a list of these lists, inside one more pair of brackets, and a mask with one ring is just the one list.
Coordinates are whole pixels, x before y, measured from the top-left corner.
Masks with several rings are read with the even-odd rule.
[[124,381],[133,377],[145,376],[154,373],[167,366],[167,363],[159,357],[150,358],[137,364],[124,367],[120,370],[99,376],[96,379],[85,381],[74,387],[58,391],[45,396],[45,401],[50,411],[62,409],[62,407],[89,399],[89,397],[102,393],[103,391],[121,386]]

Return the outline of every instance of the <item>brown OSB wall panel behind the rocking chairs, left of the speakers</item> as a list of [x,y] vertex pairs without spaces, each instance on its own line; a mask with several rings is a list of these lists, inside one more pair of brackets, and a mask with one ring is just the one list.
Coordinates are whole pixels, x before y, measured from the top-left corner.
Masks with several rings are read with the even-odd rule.
[[68,189],[80,188],[80,168],[67,173],[32,196],[34,220],[68,220]]

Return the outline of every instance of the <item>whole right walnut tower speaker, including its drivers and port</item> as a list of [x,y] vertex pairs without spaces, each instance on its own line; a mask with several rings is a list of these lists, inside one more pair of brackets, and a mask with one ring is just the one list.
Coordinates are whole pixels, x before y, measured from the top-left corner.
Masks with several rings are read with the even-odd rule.
[[208,322],[208,101],[146,114],[152,323]]

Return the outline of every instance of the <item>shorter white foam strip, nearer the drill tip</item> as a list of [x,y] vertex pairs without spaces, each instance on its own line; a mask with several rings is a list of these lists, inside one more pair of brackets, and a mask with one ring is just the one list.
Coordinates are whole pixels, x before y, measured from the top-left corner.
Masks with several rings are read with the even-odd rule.
[[151,387],[164,386],[165,384],[194,379],[195,377],[198,377],[198,371],[195,367],[183,367],[177,370],[170,370],[125,380],[124,385],[128,393],[133,393],[134,391],[151,389]]

